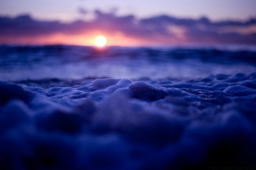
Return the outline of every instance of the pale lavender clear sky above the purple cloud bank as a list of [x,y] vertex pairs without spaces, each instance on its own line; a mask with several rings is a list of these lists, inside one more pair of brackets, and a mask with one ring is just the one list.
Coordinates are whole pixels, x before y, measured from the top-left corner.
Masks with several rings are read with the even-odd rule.
[[207,16],[211,20],[245,19],[256,16],[255,8],[256,0],[0,0],[0,15],[26,13],[37,19],[64,21],[91,19],[95,9],[118,9],[119,16],[133,14],[138,18],[167,14]]

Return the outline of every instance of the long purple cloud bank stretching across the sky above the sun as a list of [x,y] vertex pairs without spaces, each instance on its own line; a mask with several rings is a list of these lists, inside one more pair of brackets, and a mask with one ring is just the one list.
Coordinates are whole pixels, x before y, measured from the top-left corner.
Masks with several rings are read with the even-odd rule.
[[[84,8],[79,8],[86,14]],[[50,36],[53,34],[79,35],[100,30],[105,34],[122,34],[123,37],[145,42],[145,44],[169,45],[171,43],[229,43],[256,44],[256,18],[246,21],[225,20],[212,22],[207,17],[199,19],[177,18],[167,15],[137,19],[134,15],[117,16],[115,11],[95,11],[92,21],[35,20],[29,15],[15,18],[0,17],[0,43],[9,37]],[[12,39],[15,43],[15,40]],[[60,40],[61,41],[61,40]],[[61,43],[61,42],[60,42]]]

